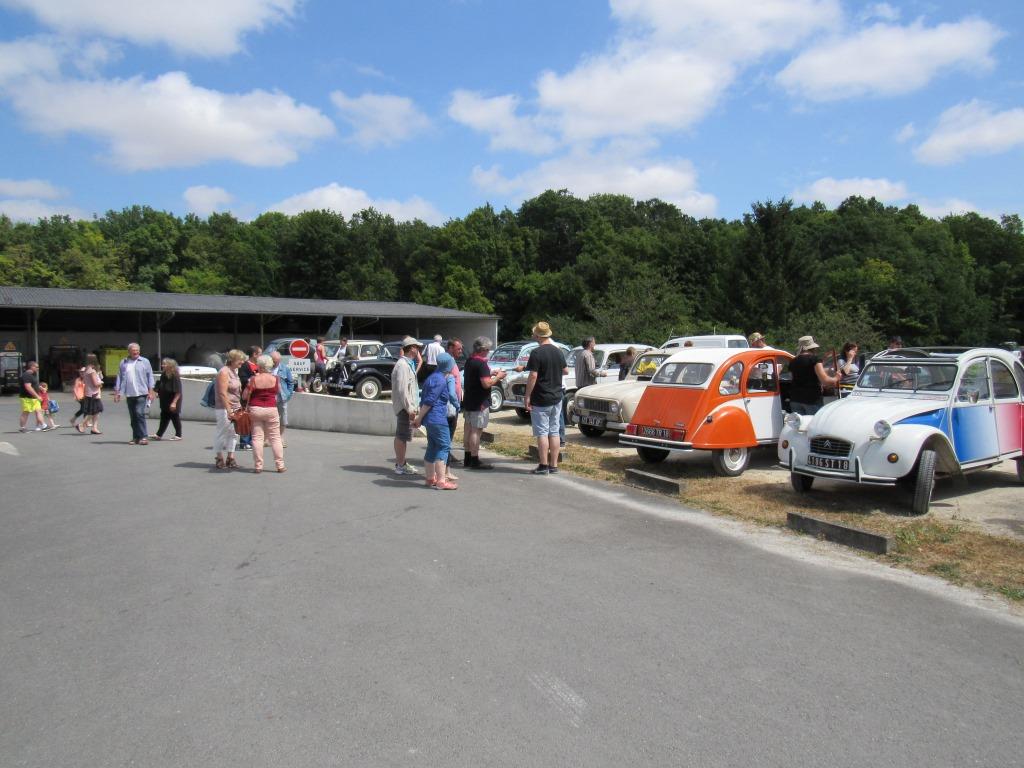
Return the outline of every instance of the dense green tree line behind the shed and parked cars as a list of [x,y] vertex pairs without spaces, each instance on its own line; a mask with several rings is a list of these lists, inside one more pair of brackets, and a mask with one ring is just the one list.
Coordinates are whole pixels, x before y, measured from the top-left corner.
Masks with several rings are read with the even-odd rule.
[[780,346],[805,333],[826,347],[997,343],[1024,324],[1024,226],[862,198],[834,211],[761,202],[727,221],[547,191],[441,226],[134,206],[92,221],[0,216],[0,285],[415,301],[495,312],[506,337],[549,318],[570,341],[761,330]]

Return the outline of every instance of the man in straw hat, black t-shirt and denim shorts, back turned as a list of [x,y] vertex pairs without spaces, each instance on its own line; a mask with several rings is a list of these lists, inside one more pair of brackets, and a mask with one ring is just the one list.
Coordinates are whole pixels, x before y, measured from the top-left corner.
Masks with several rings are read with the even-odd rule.
[[536,475],[558,471],[558,427],[562,414],[562,376],[568,373],[561,350],[551,341],[551,326],[541,322],[534,326],[537,348],[529,353],[526,370],[525,407],[537,437],[540,463]]

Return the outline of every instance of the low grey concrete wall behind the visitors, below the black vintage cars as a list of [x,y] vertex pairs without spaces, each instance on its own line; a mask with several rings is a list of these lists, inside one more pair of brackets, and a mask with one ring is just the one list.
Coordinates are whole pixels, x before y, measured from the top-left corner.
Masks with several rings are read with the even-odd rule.
[[[199,404],[207,384],[200,379],[181,380],[181,418],[185,421],[215,421],[213,409]],[[390,400],[296,392],[288,401],[288,428],[393,435],[394,411]]]

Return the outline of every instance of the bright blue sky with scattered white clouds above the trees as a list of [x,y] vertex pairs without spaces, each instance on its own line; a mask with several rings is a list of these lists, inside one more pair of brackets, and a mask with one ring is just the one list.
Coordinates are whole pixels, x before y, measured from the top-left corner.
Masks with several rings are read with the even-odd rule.
[[0,0],[0,212],[1024,213],[1024,3]]

